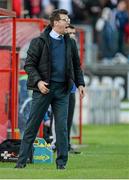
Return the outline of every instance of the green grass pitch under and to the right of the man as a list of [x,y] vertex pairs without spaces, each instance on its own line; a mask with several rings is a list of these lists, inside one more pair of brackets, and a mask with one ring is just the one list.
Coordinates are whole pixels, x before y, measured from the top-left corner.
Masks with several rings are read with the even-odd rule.
[[129,178],[129,124],[83,127],[80,155],[69,155],[67,169],[53,164],[30,164],[14,169],[14,163],[0,163],[0,178],[19,179],[124,179]]

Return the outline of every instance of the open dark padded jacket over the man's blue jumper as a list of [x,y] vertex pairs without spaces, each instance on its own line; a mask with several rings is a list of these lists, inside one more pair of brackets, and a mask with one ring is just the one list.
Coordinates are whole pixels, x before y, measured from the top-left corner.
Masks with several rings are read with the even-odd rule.
[[[37,83],[40,80],[47,83],[50,81],[51,52],[49,33],[51,30],[52,28],[49,25],[39,37],[34,38],[30,43],[24,66],[24,69],[28,74],[28,89],[39,90]],[[67,89],[71,88],[73,81],[77,87],[79,85],[85,86],[76,43],[68,35],[64,35],[64,39],[66,46],[66,87]]]

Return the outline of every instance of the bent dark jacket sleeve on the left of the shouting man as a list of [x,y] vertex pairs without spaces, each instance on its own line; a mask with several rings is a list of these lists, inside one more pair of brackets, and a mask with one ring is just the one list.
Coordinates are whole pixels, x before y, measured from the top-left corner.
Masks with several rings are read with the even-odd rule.
[[31,41],[29,49],[27,51],[27,58],[25,61],[24,69],[28,74],[28,79],[31,81],[31,84],[35,86],[41,76],[37,70],[40,56],[43,49],[43,42],[39,38],[35,38]]

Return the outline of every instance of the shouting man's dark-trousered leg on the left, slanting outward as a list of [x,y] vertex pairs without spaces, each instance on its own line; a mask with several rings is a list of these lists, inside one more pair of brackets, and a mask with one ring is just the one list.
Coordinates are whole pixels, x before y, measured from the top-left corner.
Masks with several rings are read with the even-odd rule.
[[50,94],[43,95],[40,92],[33,93],[31,112],[23,135],[23,140],[21,142],[17,166],[26,165],[32,144],[36,138],[39,126],[48,109],[50,101]]

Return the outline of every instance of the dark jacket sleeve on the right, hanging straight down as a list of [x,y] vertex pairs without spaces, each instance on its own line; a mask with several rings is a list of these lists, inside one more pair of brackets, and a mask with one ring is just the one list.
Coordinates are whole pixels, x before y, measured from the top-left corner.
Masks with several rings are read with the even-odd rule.
[[74,68],[75,84],[77,87],[79,85],[85,86],[77,45],[74,39],[71,39],[71,42],[72,42],[72,62]]

